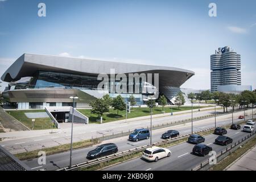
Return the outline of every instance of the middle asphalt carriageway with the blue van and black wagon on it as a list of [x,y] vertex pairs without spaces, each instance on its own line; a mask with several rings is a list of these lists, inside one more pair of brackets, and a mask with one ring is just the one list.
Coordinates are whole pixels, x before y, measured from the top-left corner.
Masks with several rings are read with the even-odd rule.
[[[241,121],[241,119],[237,119],[239,114],[240,113],[234,114],[234,122]],[[222,115],[222,116],[217,117],[217,126],[231,123],[232,119],[230,119],[230,116],[231,115],[229,114],[229,115]],[[208,119],[203,119],[200,121],[193,122],[193,131],[194,132],[200,131],[203,129],[207,129],[210,127],[214,127],[214,118],[208,118]],[[191,133],[191,122],[181,124],[181,125],[166,127],[163,129],[152,130],[152,142],[158,142],[160,140],[163,140],[160,138],[161,135],[165,131],[170,130],[170,129],[178,130],[180,132],[180,135],[189,134],[189,133]],[[128,136],[119,137],[119,138],[104,140],[102,143],[110,143],[110,142],[115,143],[115,144],[117,144],[119,151],[129,150],[131,148],[144,146],[144,145],[150,143],[150,139],[140,140],[139,142],[130,142],[129,140],[127,140],[127,138],[128,138]],[[73,158],[72,158],[73,164],[85,162],[86,160],[88,160],[85,157],[86,157],[88,151],[93,150],[94,148],[96,148],[96,146],[73,150]],[[26,160],[24,162],[34,170],[38,170],[38,169],[54,170],[54,169],[69,166],[69,155],[70,155],[69,152],[63,152],[60,154],[49,155],[46,158],[46,165],[39,165],[37,158],[32,159],[32,160]]]

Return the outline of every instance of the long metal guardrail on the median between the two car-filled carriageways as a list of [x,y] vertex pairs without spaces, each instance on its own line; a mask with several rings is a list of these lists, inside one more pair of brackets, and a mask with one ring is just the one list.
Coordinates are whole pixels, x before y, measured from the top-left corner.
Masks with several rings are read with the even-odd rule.
[[[228,125],[230,125],[230,124],[228,124]],[[219,127],[222,127],[222,126],[226,126],[226,125],[221,125]],[[215,127],[212,127],[212,128],[209,128],[209,129],[200,130],[200,131],[196,131],[196,132],[194,132],[194,134],[197,134],[197,133],[200,133],[200,132],[204,132],[204,131],[213,130],[213,129],[215,129]],[[186,135],[181,135],[181,136],[175,137],[175,138],[161,140],[159,142],[152,143],[152,146],[161,146],[163,144],[168,144],[168,143],[176,142],[177,140],[181,140],[181,139],[189,137],[189,135],[190,134],[186,134]],[[79,168],[92,167],[92,166],[100,164],[102,162],[109,162],[109,160],[121,158],[122,156],[125,156],[125,155],[135,154],[137,152],[141,152],[141,151],[145,150],[148,147],[150,147],[150,144],[144,145],[144,146],[141,146],[141,147],[132,148],[130,150],[118,152],[118,153],[115,153],[115,154],[112,154],[112,155],[108,155],[108,156],[104,156],[104,157],[101,157],[101,158],[97,158],[97,159],[93,159],[93,160],[88,160],[88,161],[83,162],[83,163],[75,164],[71,168],[64,167],[64,168],[61,168],[61,169],[57,169],[56,171],[72,171],[72,170],[76,170],[76,169],[79,169]]]

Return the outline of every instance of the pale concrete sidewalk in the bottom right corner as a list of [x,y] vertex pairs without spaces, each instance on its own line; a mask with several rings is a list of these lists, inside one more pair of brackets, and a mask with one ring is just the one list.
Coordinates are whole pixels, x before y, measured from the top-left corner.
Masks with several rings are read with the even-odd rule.
[[256,171],[256,146],[227,167],[226,171]]

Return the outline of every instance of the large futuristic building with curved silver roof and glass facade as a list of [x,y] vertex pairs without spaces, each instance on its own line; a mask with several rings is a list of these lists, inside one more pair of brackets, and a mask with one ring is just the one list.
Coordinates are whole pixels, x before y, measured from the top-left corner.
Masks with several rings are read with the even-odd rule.
[[[104,94],[110,94],[110,97],[118,95],[109,89],[98,90],[102,81],[98,75],[110,77],[113,69],[114,74],[125,74],[127,77],[130,73],[158,74],[158,92],[170,102],[180,91],[180,86],[195,75],[180,68],[24,53],[2,75],[1,80],[9,82],[2,94],[6,104],[15,109],[71,106],[71,96],[79,97],[76,107],[88,107],[90,101]],[[114,81],[114,85],[118,82]],[[154,85],[155,80],[152,79],[151,83]],[[109,85],[112,84],[110,80]],[[125,99],[131,94],[137,104],[143,104],[142,88],[136,93],[121,93]]]

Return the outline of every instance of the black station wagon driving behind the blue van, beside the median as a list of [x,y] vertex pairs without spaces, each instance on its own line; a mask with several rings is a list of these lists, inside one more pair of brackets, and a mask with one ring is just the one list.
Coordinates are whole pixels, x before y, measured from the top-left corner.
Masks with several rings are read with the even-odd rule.
[[100,158],[101,156],[114,154],[118,151],[117,145],[114,143],[106,143],[98,146],[96,149],[89,151],[87,158],[95,159]]

